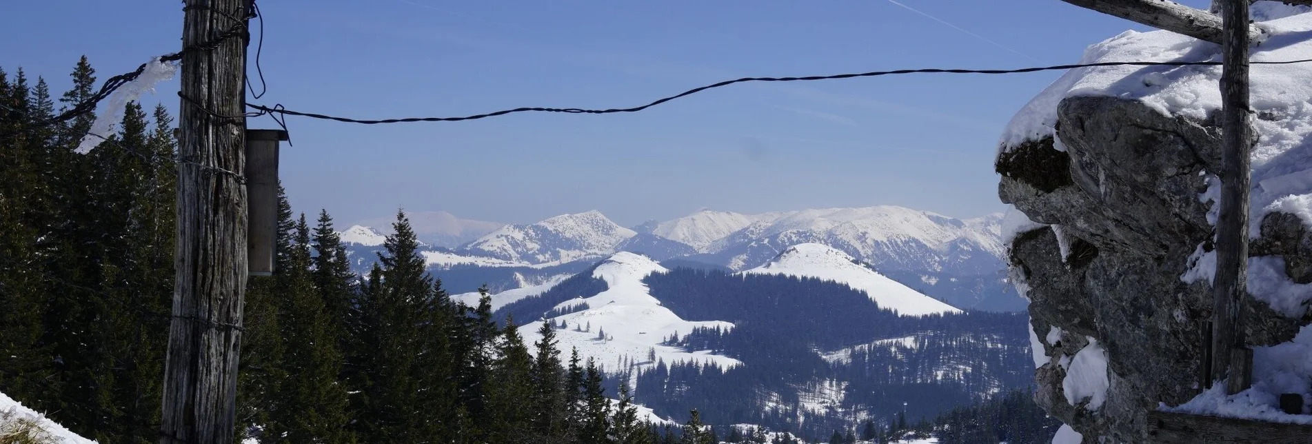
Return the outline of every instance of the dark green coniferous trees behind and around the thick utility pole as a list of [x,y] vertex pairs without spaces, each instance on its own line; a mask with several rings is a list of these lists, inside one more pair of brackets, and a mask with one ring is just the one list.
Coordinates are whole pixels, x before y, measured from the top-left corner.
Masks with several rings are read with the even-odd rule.
[[[89,97],[83,58],[55,99],[0,70],[0,391],[101,443],[155,443],[173,296],[172,118],[129,104],[35,127]],[[34,129],[35,127],[35,129]],[[352,272],[332,217],[281,200],[277,271],[252,277],[237,436],[260,443],[649,443],[656,428],[552,328],[525,343],[484,298],[453,303],[398,211],[378,264]],[[618,398],[619,402],[607,401]]]

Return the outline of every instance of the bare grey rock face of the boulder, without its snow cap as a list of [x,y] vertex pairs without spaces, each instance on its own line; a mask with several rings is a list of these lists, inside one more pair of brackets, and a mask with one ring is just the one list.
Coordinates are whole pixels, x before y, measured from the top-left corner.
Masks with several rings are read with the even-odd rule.
[[[1055,134],[1005,150],[996,164],[1001,200],[1050,225],[1018,234],[1009,250],[1047,357],[1035,401],[1086,443],[1141,443],[1149,410],[1200,391],[1210,276],[1182,276],[1211,248],[1212,204],[1199,196],[1220,171],[1218,125],[1132,99],[1076,96],[1060,101]],[[1312,233],[1298,217],[1266,215],[1250,250],[1283,257],[1295,282],[1312,282]],[[1287,342],[1309,321],[1258,300],[1246,309],[1250,345]],[[1078,390],[1065,381],[1090,339],[1106,353],[1101,405],[1072,399]]]

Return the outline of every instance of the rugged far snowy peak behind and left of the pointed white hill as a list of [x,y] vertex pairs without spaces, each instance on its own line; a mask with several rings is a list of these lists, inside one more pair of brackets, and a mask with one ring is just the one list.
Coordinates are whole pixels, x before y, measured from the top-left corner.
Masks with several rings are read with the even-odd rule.
[[508,225],[470,244],[462,252],[541,264],[605,256],[636,235],[601,211],[562,214],[533,225]]

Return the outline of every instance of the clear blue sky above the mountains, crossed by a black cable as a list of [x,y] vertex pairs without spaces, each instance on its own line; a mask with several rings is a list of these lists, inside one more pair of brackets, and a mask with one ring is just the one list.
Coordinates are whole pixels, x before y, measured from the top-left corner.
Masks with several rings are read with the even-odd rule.
[[[1056,0],[269,0],[261,9],[269,92],[251,101],[361,118],[632,106],[740,76],[1073,63],[1090,43],[1144,29]],[[5,12],[0,66],[56,91],[79,55],[105,79],[180,47],[177,1],[14,1]],[[1002,126],[1057,75],[745,84],[609,116],[378,126],[293,117],[281,175],[298,210],[327,208],[340,223],[398,206],[501,222],[598,209],[622,225],[699,208],[904,205],[974,217],[1001,209],[992,159]],[[176,109],[176,91],[173,80],[143,101]]]

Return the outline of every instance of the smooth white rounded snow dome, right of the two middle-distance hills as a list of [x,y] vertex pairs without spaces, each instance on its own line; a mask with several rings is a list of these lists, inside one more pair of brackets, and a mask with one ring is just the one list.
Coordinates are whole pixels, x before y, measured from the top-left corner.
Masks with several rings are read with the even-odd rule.
[[819,243],[789,247],[765,265],[745,273],[804,276],[848,284],[866,292],[880,307],[897,310],[904,315],[962,311],[879,275],[842,251]]

